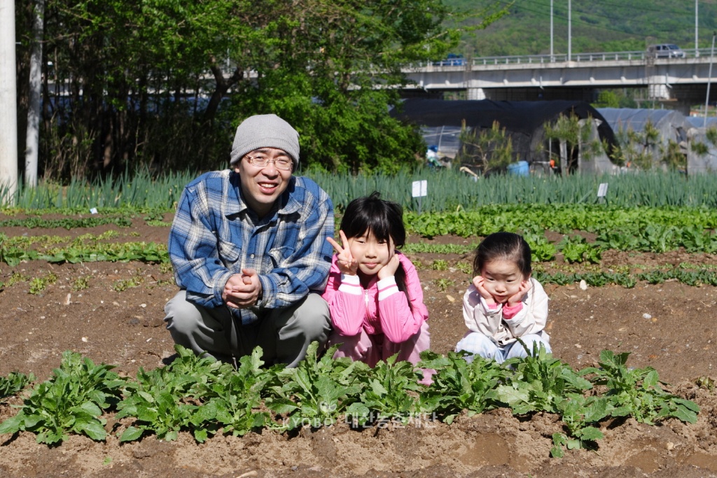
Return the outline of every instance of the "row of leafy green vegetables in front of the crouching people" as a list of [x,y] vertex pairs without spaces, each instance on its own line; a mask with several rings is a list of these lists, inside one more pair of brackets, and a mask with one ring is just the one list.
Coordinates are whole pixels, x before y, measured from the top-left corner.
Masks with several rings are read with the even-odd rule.
[[[427,351],[419,368],[396,356],[370,368],[333,359],[334,350],[322,355],[313,343],[298,367],[265,368],[257,348],[234,370],[176,345],[178,356],[171,365],[141,369],[136,380],[121,378],[113,365],[95,365],[65,352],[52,378],[35,385],[18,414],[0,424],[0,434],[30,431],[46,444],[70,433],[103,440],[108,433],[104,414],[116,411],[116,419],[130,420],[120,441],[148,434],[174,440],[180,431],[190,431],[203,442],[218,433],[318,428],[341,419],[354,427],[405,424],[417,417],[450,424],[464,411],[471,416],[509,407],[516,415],[559,414],[563,426],[553,436],[552,454],[561,457],[564,446],[596,446],[603,436],[600,421],[609,417],[695,423],[699,412],[692,401],[664,391],[654,369],[627,368],[629,353],[604,350],[599,368],[574,371],[543,349],[503,364],[482,358],[469,363],[462,353]],[[431,385],[419,383],[421,369],[436,371]],[[22,374],[0,378],[0,391],[17,393],[30,380]]]

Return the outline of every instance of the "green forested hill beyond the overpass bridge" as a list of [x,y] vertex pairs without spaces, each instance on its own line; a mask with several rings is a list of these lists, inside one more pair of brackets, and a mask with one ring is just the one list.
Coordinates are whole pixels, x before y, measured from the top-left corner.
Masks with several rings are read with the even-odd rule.
[[[508,1],[444,0],[467,11]],[[465,34],[459,52],[474,57],[550,52],[551,0],[515,0],[509,13],[485,30]],[[698,46],[711,47],[717,31],[717,0],[698,0]],[[645,49],[652,43],[695,47],[693,0],[571,0],[571,50],[616,52]],[[553,0],[554,53],[568,51],[568,0]]]

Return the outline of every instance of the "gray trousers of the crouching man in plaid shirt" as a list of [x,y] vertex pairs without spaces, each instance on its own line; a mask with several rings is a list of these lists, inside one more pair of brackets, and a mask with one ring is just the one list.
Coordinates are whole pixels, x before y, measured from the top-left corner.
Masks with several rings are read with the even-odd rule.
[[[164,312],[167,330],[175,343],[224,362],[250,355],[258,345],[266,365],[286,363],[295,367],[305,357],[310,343],[316,340],[323,346],[331,333],[328,304],[318,294],[309,294],[291,307],[267,309],[252,324],[234,325],[238,328],[236,335],[225,330],[234,324],[227,307],[208,308],[188,302],[184,290],[166,303]],[[236,343],[229,342],[230,336],[237,337]]]

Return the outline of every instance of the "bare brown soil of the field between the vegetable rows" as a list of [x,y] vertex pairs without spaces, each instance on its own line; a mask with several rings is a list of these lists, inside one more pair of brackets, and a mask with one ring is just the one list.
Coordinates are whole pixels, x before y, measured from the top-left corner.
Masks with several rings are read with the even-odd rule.
[[[6,217],[0,216],[0,219]],[[166,220],[171,221],[171,217]],[[127,241],[165,242],[166,226],[136,218],[131,228],[5,228],[9,236],[42,234],[77,237],[118,231]],[[438,237],[428,241],[473,244],[477,238]],[[424,285],[432,350],[452,350],[465,332],[461,300],[470,281],[470,254],[409,254]],[[435,270],[445,261],[446,270]],[[630,264],[717,264],[705,254],[609,253],[603,266]],[[543,264],[544,267],[560,267]],[[40,295],[29,293],[30,279],[48,272],[57,282]],[[11,371],[52,375],[64,350],[95,363],[116,365],[135,376],[138,368],[169,363],[173,343],[163,326],[163,305],[176,292],[171,273],[140,262],[0,264],[0,282],[14,273],[27,280],[0,291],[0,376]],[[78,277],[89,287],[72,292]],[[17,277],[17,276],[16,276]],[[118,281],[137,287],[121,292]],[[672,393],[701,406],[697,424],[670,419],[657,426],[632,419],[602,424],[605,438],[596,451],[567,451],[550,457],[551,436],[561,422],[551,414],[513,416],[508,409],[460,416],[450,426],[414,422],[363,431],[346,424],[298,433],[272,431],[243,437],[214,436],[197,444],[189,434],[177,441],[150,436],[119,444],[121,424],[108,424],[110,436],[95,442],[70,436],[60,446],[37,444],[35,436],[0,436],[0,476],[6,477],[715,477],[717,476],[717,396],[698,378],[716,378],[717,289],[678,282],[589,287],[546,285],[551,298],[548,330],[556,357],[575,368],[594,365],[603,349],[630,352],[628,365],[652,366]],[[0,421],[16,413],[19,397],[0,403]]]

